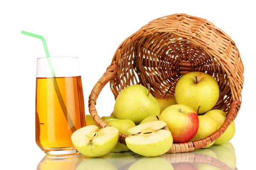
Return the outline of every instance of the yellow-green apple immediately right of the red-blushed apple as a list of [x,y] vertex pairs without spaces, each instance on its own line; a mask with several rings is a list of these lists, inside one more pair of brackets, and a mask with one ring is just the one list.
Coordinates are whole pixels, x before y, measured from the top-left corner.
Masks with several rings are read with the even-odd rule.
[[[210,136],[212,133],[214,133],[217,130],[216,122],[211,116],[204,114],[204,115],[198,116],[198,119],[199,119],[198,131],[195,137],[191,141],[206,138],[207,136]],[[215,142],[211,142],[203,148],[208,148],[212,146],[213,143]]]

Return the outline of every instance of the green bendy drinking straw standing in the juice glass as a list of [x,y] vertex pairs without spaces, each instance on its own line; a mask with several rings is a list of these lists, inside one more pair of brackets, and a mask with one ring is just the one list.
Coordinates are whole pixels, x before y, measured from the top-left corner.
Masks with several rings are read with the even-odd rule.
[[56,95],[58,97],[58,101],[59,101],[59,103],[61,105],[61,109],[62,109],[62,111],[64,113],[64,116],[65,116],[65,118],[67,120],[67,123],[68,123],[71,131],[72,132],[76,131],[76,127],[75,127],[74,123],[72,122],[72,119],[70,118],[70,115],[69,115],[69,113],[67,111],[67,107],[66,107],[66,105],[64,103],[64,100],[63,100],[63,98],[61,96],[61,91],[60,91],[60,88],[58,87],[57,80],[55,79],[55,77],[56,77],[55,76],[55,72],[54,72],[53,67],[52,67],[52,62],[51,62],[51,59],[50,59],[50,54],[49,54],[49,51],[48,51],[48,48],[47,48],[47,45],[46,45],[44,37],[41,36],[41,35],[37,35],[37,34],[32,34],[30,32],[26,32],[26,31],[21,31],[21,34],[25,34],[25,35],[28,35],[30,37],[35,37],[35,38],[38,38],[38,39],[42,40],[43,45],[44,45],[44,51],[45,51],[45,54],[46,54],[46,57],[47,57],[47,61],[48,61],[48,64],[49,64],[49,68],[50,68],[51,74],[52,74],[52,83],[53,83],[53,86],[55,88],[55,92],[56,92]]

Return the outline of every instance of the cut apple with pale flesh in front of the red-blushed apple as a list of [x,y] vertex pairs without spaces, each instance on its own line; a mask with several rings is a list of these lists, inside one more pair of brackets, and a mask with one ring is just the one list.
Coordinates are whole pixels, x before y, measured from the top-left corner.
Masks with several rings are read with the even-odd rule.
[[131,136],[125,138],[130,150],[142,156],[160,156],[172,146],[172,134],[165,130],[166,122],[146,122],[128,129]]

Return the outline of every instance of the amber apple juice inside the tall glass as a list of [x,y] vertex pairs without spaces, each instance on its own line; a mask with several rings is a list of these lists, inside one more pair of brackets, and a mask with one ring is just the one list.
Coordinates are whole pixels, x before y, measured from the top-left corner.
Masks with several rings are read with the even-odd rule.
[[37,78],[35,110],[38,147],[45,153],[74,150],[71,135],[86,126],[81,76]]

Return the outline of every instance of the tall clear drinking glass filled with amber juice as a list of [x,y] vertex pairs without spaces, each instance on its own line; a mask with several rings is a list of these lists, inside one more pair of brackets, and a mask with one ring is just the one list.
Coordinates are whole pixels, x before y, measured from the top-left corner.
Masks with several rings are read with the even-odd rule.
[[[52,63],[55,77],[49,68]],[[76,153],[72,133],[86,126],[78,57],[37,60],[35,138],[46,154]]]

